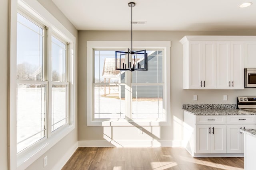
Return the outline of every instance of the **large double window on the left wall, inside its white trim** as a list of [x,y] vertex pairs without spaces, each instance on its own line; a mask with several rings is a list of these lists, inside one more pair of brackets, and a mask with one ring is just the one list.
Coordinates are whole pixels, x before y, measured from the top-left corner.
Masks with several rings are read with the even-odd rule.
[[68,46],[54,31],[17,14],[18,154],[69,124]]

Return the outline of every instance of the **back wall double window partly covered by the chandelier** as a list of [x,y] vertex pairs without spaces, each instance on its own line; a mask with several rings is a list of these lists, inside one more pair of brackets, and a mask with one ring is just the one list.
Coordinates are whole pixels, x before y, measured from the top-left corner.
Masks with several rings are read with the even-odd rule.
[[120,49],[120,45],[93,48],[90,43],[96,42],[89,41],[87,44],[88,75],[92,75],[92,80],[87,84],[90,90],[87,101],[91,108],[88,109],[88,125],[103,125],[106,122],[122,125],[124,120],[140,122],[140,125],[145,124],[142,122],[147,122],[146,125],[148,122],[168,124],[170,88],[167,87],[170,84],[167,77],[170,71],[165,62],[169,61],[167,48],[159,45],[148,48],[148,70],[130,72],[115,70],[115,51],[126,49]]

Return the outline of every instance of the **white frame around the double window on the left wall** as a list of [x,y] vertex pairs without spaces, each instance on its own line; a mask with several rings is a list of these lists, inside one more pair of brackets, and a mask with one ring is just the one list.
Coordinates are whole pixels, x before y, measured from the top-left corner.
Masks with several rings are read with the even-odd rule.
[[[28,149],[17,155],[17,129],[16,129],[16,53],[17,53],[17,13],[22,11],[34,20],[48,27],[48,34],[59,35],[62,40],[68,42],[69,56],[68,74],[68,117],[67,125],[51,132],[51,125],[48,125],[48,135],[46,139],[40,140]],[[10,23],[9,23],[9,104],[8,104],[8,134],[9,134],[9,169],[26,169],[35,160],[40,158],[47,150],[56,145],[62,138],[68,135],[76,127],[76,37],[64,27],[50,12],[48,12],[38,1],[34,0],[10,0]],[[51,38],[47,38],[47,59],[51,56]],[[49,43],[50,42],[50,43]],[[44,61],[45,62],[45,61]],[[48,73],[51,68],[48,66]],[[49,84],[48,84],[49,89]],[[48,124],[50,124],[48,122]],[[49,133],[50,131],[50,133]]]

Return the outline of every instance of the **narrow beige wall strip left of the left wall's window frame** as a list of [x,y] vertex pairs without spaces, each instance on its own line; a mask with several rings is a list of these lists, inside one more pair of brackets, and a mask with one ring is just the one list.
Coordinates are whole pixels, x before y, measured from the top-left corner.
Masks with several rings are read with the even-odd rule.
[[1,0],[0,7],[0,169],[8,168],[8,12],[9,1]]

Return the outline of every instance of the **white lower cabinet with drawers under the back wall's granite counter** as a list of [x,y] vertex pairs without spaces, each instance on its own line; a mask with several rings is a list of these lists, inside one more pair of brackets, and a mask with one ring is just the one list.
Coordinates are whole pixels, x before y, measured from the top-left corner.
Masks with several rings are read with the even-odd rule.
[[192,156],[243,156],[244,133],[256,115],[193,115],[184,111],[184,144]]

